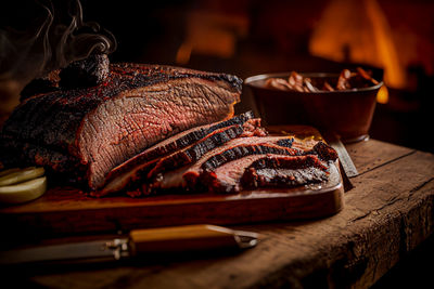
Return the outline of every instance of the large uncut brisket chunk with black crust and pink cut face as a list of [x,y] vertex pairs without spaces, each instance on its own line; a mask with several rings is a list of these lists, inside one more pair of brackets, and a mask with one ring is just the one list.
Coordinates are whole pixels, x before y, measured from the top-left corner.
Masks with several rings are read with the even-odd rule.
[[0,161],[44,166],[95,189],[114,167],[159,141],[232,117],[241,82],[225,74],[112,64],[94,87],[24,100],[2,128]]

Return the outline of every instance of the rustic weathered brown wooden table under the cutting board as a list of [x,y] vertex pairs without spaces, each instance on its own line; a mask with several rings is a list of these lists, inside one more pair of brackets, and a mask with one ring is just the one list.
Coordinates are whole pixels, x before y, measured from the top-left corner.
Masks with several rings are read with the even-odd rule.
[[264,239],[235,254],[27,272],[27,281],[54,288],[369,287],[434,231],[434,155],[375,140],[347,149],[359,175],[333,216],[238,226]]

